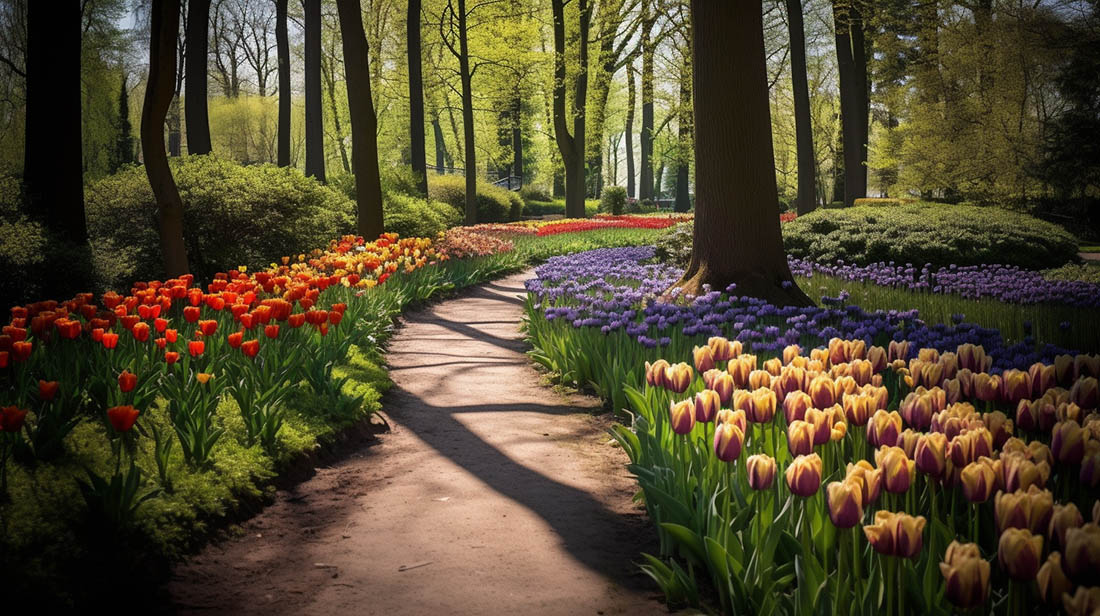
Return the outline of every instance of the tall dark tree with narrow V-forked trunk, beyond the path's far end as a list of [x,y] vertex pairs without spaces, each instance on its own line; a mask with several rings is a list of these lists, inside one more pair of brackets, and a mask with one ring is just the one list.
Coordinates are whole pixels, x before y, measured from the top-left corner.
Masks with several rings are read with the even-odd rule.
[[584,218],[584,111],[588,90],[588,25],[592,7],[578,0],[578,69],[573,78],[573,132],[565,116],[565,3],[551,0],[553,9],[553,132],[565,165],[565,217]]

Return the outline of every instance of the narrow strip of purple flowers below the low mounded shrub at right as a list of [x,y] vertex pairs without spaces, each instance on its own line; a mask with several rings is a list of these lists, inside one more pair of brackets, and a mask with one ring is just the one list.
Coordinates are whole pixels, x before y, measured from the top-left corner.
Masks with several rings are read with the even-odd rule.
[[806,278],[825,274],[845,280],[879,286],[955,294],[977,299],[988,297],[1009,304],[1063,304],[1080,308],[1100,307],[1100,285],[1078,280],[1048,280],[1041,272],[1014,265],[965,265],[935,268],[906,263],[853,265],[838,261],[822,264],[790,257],[791,272]]

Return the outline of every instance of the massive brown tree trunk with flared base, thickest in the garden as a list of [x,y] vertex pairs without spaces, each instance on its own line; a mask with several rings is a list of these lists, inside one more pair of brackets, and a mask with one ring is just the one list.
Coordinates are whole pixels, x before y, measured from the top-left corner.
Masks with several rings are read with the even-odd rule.
[[760,2],[692,0],[695,232],[675,287],[698,295],[703,285],[736,284],[736,295],[809,306],[791,277],[776,216],[761,14]]

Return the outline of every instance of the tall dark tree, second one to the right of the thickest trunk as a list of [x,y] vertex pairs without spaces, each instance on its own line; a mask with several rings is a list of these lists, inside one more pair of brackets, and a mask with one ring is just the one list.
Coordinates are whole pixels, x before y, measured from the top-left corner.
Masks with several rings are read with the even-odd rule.
[[861,0],[833,0],[836,59],[840,77],[840,125],[844,140],[844,205],[867,196],[868,101],[867,47]]

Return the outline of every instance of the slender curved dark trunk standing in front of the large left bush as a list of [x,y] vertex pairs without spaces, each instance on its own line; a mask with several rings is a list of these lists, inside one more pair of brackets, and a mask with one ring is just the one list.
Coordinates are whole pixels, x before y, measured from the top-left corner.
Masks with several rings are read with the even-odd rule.
[[188,273],[184,244],[184,204],[164,151],[164,121],[173,100],[176,38],[180,0],[153,0],[150,20],[148,79],[141,110],[141,146],[145,175],[156,198],[164,272],[175,278]]

